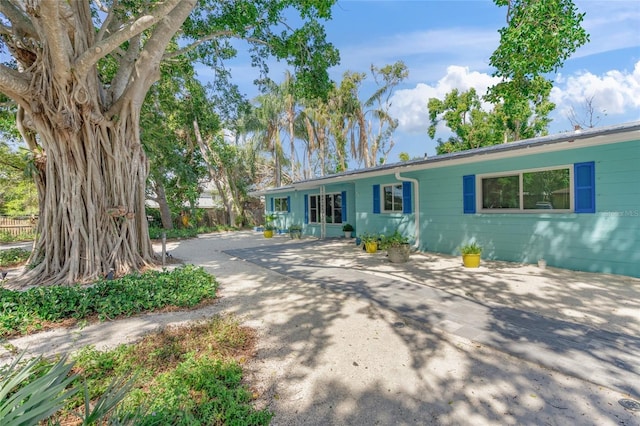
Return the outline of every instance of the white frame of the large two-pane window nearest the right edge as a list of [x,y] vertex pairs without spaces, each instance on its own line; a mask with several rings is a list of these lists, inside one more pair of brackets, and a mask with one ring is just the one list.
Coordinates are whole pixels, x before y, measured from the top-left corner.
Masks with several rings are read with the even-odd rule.
[[[524,191],[523,189],[523,175],[525,173],[544,172],[547,170],[560,170],[569,169],[569,208],[568,209],[525,209],[524,208]],[[482,179],[486,178],[498,178],[504,176],[518,176],[520,208],[519,209],[485,209],[482,207]],[[575,212],[574,206],[574,184],[573,184],[573,164],[560,164],[557,166],[538,167],[534,169],[518,169],[510,170],[508,172],[499,173],[484,173],[476,175],[476,212],[478,213],[516,213],[516,214],[566,214]]]

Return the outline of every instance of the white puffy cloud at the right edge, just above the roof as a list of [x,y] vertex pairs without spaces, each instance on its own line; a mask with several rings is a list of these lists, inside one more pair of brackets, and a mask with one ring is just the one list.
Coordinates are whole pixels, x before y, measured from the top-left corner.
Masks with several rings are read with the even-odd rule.
[[559,78],[551,91],[551,101],[564,117],[572,107],[579,111],[588,99],[592,99],[597,113],[637,117],[640,113],[640,61],[631,72],[611,70],[595,75],[583,71]]

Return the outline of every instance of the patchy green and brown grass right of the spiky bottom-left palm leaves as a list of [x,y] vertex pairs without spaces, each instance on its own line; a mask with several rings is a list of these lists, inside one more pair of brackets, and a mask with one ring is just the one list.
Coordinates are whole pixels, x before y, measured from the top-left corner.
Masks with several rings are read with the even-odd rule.
[[145,407],[136,424],[266,425],[271,414],[252,407],[253,393],[242,384],[241,364],[253,356],[254,344],[251,329],[218,316],[109,352],[85,348],[77,355],[76,372],[96,396],[114,377],[136,377],[123,401],[125,413]]

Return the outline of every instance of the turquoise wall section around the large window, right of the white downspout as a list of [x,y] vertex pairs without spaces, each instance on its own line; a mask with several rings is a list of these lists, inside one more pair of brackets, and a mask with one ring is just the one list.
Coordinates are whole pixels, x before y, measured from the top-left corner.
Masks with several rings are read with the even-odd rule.
[[[463,214],[462,176],[595,161],[596,213]],[[640,276],[640,141],[425,170],[420,249]]]

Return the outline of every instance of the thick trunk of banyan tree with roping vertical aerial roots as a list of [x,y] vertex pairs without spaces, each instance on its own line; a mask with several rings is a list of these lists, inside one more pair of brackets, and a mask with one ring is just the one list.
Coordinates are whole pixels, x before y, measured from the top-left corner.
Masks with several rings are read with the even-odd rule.
[[29,261],[34,267],[22,279],[71,284],[151,264],[147,162],[137,114],[124,104],[111,122],[96,120],[90,108],[70,99],[50,105],[56,104],[58,111],[33,118],[46,159],[39,164],[39,233]]

